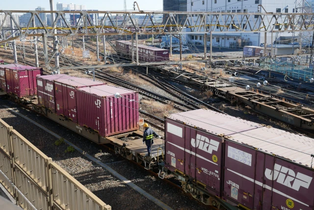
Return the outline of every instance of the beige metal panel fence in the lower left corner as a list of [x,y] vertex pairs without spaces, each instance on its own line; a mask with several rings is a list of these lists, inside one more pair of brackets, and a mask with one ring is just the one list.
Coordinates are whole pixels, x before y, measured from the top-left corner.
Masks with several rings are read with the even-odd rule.
[[0,183],[28,210],[111,210],[0,119]]

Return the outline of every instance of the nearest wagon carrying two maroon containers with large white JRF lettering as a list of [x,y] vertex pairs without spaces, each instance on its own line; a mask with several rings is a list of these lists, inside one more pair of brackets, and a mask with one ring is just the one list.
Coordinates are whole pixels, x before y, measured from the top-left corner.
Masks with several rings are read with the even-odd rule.
[[165,168],[218,209],[313,210],[314,140],[210,110],[165,117]]

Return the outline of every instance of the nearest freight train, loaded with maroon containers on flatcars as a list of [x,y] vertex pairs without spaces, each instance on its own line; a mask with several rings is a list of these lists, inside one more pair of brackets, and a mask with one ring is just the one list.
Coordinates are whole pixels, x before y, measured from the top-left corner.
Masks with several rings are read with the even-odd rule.
[[[137,92],[86,78],[42,75],[42,69],[21,65],[0,65],[0,72],[2,94],[98,144],[113,145],[147,169],[159,167],[160,178],[173,174],[186,193],[206,205],[314,209],[314,140],[309,137],[201,109],[165,116],[165,138],[155,139],[146,156]],[[26,96],[24,89],[32,90]]]

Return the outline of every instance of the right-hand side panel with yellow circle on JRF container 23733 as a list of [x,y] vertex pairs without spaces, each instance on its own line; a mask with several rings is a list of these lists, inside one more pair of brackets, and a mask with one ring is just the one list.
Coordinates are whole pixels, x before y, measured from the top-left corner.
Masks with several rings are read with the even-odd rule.
[[221,176],[221,138],[196,130],[191,139],[195,148],[195,178],[208,191],[213,190],[219,196]]

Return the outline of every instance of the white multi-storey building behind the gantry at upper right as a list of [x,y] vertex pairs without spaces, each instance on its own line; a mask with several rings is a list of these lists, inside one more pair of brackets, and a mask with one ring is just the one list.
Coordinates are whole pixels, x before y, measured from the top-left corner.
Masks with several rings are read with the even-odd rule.
[[[295,12],[295,0],[192,0],[188,2],[187,11],[210,11],[210,12],[258,12],[258,5],[262,4],[267,12],[283,12],[292,13]],[[264,11],[261,11],[264,12]],[[197,17],[194,18],[194,21]],[[241,17],[242,18],[242,17]],[[244,17],[243,17],[244,18]],[[258,15],[254,16],[255,20],[259,18]],[[210,20],[210,18],[208,18]],[[225,15],[225,23],[227,15]],[[236,18],[235,18],[236,19]],[[244,26],[239,26],[241,19],[239,21],[235,20],[235,25],[238,28]],[[261,20],[261,18],[260,18]],[[275,21],[274,21],[275,23]],[[210,23],[208,23],[210,24]],[[253,21],[250,22],[251,26],[254,26]],[[227,23],[230,25],[230,23]],[[248,28],[248,26],[246,27]],[[277,26],[276,26],[277,28]],[[219,30],[219,29],[218,29]],[[245,30],[245,29],[244,29]],[[235,26],[230,26],[229,31],[236,31]],[[280,36],[286,37],[291,40],[292,34],[288,32],[283,32],[278,34],[278,40]],[[297,33],[295,33],[297,36]],[[192,42],[203,44],[203,35],[189,35]],[[273,34],[273,41],[276,39],[276,33]],[[295,37],[295,39],[297,39]],[[271,44],[271,33],[266,35],[267,44]],[[209,45],[209,34],[207,37],[207,44]],[[235,32],[235,33],[216,33],[213,32],[212,35],[212,45],[217,47],[235,47],[238,45],[253,45],[260,46],[264,43],[264,33],[245,33],[245,32]]]

